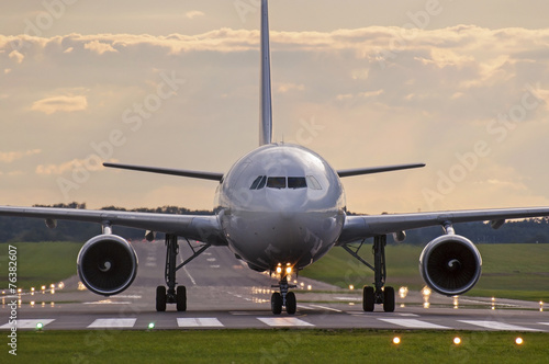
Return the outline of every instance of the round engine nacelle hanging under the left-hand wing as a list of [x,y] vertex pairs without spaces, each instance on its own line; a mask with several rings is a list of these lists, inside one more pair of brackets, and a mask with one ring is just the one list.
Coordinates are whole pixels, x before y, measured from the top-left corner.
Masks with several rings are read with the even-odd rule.
[[77,259],[83,285],[103,296],[126,289],[137,274],[137,255],[132,246],[116,235],[99,235],[88,240]]

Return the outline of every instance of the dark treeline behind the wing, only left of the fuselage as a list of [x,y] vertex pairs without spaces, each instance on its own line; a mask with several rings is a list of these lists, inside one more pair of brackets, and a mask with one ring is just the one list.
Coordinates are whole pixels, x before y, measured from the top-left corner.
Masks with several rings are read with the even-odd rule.
[[[55,204],[55,205],[35,205],[35,207],[57,207],[57,208],[86,208],[86,204]],[[107,206],[100,209],[128,211],[141,213],[158,214],[184,214],[184,215],[212,215],[209,211],[190,211],[177,206],[163,206],[157,208],[135,208],[125,209],[116,206]],[[145,231],[141,229],[114,226],[113,232],[126,239],[143,239]],[[16,241],[81,241],[101,234],[101,225],[93,223],[57,220],[57,227],[49,229],[44,219],[29,217],[0,216],[0,242]],[[157,235],[157,238],[163,238]]]

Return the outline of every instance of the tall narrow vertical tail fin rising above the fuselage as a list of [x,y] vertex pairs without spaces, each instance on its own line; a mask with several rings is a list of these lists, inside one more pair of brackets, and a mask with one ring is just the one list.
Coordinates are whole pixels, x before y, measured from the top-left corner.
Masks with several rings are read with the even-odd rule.
[[269,9],[267,0],[261,0],[261,100],[259,145],[272,141],[272,105],[271,105],[271,60],[269,47]]

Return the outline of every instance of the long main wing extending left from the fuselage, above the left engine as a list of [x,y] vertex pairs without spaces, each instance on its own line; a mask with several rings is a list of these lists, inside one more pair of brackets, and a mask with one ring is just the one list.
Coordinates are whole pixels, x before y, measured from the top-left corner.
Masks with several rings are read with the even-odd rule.
[[48,225],[53,220],[75,220],[119,225],[144,230],[172,234],[212,246],[226,246],[217,216],[168,215],[130,213],[117,211],[93,211],[49,207],[0,206],[0,216],[44,218]]

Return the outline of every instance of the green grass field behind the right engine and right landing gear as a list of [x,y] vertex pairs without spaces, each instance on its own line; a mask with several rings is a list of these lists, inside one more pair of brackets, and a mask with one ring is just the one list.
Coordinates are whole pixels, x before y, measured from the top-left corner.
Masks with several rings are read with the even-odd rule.
[[[482,276],[468,295],[496,296],[526,300],[549,300],[549,244],[478,244],[482,254]],[[425,284],[419,275],[422,247],[400,244],[386,247],[388,285],[421,289]],[[360,251],[367,261],[371,247]],[[373,282],[373,273],[341,248],[335,248],[317,263],[301,273],[322,282],[348,287],[361,287]]]

